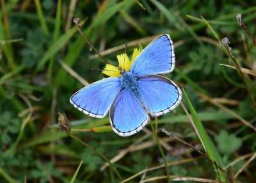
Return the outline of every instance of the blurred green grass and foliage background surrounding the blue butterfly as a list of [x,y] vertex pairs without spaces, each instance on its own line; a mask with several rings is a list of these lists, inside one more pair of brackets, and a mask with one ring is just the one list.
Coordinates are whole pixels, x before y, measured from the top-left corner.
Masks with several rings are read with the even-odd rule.
[[[162,127],[202,152],[205,146],[225,171],[218,168],[221,181],[256,182],[256,47],[236,20],[241,13],[255,37],[256,1],[1,0],[0,12],[0,182],[218,181],[211,161],[163,134]],[[183,97],[173,112],[127,138],[112,131],[108,117],[90,118],[75,109],[69,99],[84,86],[76,74],[88,83],[106,77],[92,70],[105,63],[79,35],[75,17],[113,65],[126,42],[131,57],[135,47],[170,34],[176,67],[166,77],[184,88],[191,105]],[[224,37],[247,69],[246,84],[221,47]],[[84,132],[61,132],[58,113]],[[196,131],[209,139],[200,141]],[[113,166],[104,166],[111,159]]]

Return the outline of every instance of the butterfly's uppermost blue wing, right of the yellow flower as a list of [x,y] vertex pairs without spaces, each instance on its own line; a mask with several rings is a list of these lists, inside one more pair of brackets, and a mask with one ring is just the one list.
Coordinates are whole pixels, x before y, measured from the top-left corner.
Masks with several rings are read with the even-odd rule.
[[145,76],[172,72],[174,66],[173,42],[169,35],[161,35],[141,51],[129,71],[136,76]]

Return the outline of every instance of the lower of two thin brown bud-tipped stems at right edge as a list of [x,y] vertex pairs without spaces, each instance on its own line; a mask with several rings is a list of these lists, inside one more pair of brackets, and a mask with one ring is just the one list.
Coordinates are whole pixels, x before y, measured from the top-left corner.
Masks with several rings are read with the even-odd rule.
[[255,99],[254,99],[254,97],[253,97],[253,95],[252,95],[252,92],[251,92],[250,89],[248,88],[248,85],[247,85],[245,79],[244,79],[244,74],[243,74],[243,72],[242,72],[242,70],[241,70],[241,67],[240,67],[239,63],[236,61],[236,59],[234,58],[234,56],[232,55],[231,47],[229,47],[229,45],[228,45],[228,44],[230,43],[230,42],[228,41],[228,38],[223,38],[223,39],[221,40],[221,43],[222,43],[223,46],[225,46],[225,48],[226,48],[227,51],[228,51],[228,54],[229,54],[230,58],[232,59],[232,61],[234,61],[235,65],[236,65],[236,67],[237,67],[237,70],[239,70],[240,75],[241,75],[241,78],[242,78],[242,81],[243,81],[243,83],[244,83],[244,86],[246,87],[246,90],[247,90],[247,92],[249,93],[249,95],[250,95],[250,97],[251,97],[251,99],[252,99],[253,106],[256,107]]

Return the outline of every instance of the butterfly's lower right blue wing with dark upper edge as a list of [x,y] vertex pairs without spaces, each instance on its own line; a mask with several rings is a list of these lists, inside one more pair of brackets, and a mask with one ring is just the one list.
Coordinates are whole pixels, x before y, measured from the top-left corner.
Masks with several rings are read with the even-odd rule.
[[182,98],[179,86],[163,76],[140,77],[138,86],[152,116],[160,116],[172,111]]

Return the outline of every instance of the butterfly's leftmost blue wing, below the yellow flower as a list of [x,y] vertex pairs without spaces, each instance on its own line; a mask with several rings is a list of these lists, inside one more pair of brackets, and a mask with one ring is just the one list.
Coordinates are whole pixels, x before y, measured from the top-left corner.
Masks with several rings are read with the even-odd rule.
[[86,115],[104,118],[120,90],[120,77],[108,77],[85,86],[72,95],[70,102]]

